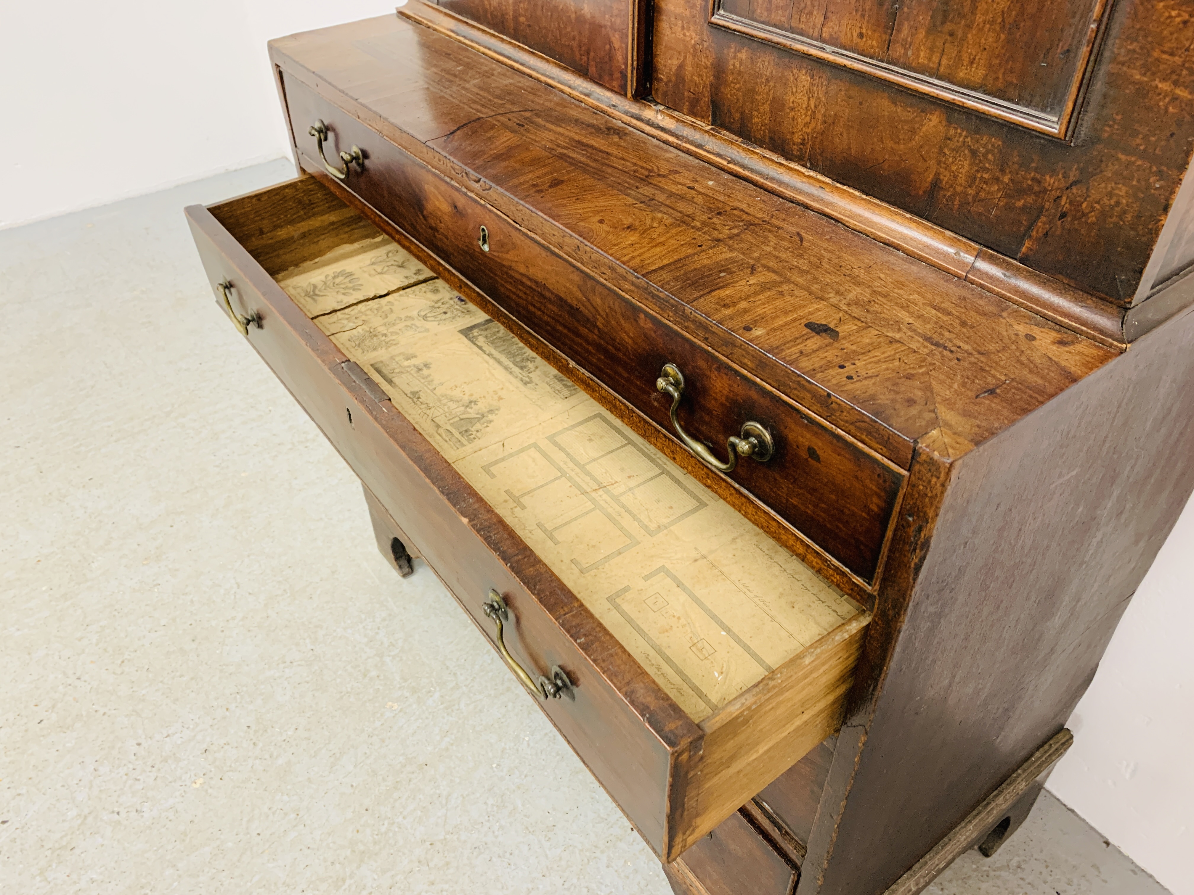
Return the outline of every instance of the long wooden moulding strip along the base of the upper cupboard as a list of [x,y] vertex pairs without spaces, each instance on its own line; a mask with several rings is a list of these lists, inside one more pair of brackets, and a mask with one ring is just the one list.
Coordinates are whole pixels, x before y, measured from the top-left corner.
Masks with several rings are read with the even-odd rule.
[[[1122,347],[1128,340],[1124,333],[1121,308],[1038,273],[1005,255],[998,255],[973,240],[842,186],[773,153],[736,140],[725,131],[663,106],[622,98],[529,53],[519,44],[443,16],[437,7],[427,6],[420,0],[412,0],[401,12],[402,16],[499,60],[667,146],[776,196],[800,203],[967,283],[974,283],[1059,326],[1109,347]],[[1171,220],[1173,215],[1167,221],[1167,229],[1170,228]],[[1158,242],[1158,251],[1159,246]],[[981,265],[975,264],[979,255],[983,257]],[[983,271],[977,270],[992,266],[998,272],[995,278],[981,276]]]

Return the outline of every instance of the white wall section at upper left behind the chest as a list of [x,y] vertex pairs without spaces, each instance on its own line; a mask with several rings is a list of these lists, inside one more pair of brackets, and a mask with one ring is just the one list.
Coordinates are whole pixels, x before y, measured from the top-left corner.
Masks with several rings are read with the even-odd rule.
[[395,0],[7,0],[0,228],[289,154],[265,42]]

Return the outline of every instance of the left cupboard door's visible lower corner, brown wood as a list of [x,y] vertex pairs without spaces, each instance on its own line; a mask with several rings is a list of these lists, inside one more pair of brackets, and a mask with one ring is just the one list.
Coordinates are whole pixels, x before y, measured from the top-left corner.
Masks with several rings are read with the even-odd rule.
[[436,0],[624,97],[647,88],[646,0]]

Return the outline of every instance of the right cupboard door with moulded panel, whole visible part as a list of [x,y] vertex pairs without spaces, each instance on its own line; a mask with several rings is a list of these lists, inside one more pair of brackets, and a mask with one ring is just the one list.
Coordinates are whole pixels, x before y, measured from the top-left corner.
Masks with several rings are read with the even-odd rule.
[[653,95],[1128,305],[1194,260],[1159,263],[1194,147],[1194,94],[1176,88],[1189,82],[1192,12],[657,0]]

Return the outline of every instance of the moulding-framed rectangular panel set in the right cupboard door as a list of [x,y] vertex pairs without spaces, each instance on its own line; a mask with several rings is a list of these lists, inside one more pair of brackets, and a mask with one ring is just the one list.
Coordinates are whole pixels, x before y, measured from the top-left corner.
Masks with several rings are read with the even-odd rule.
[[713,25],[1065,136],[1107,0],[716,0]]

